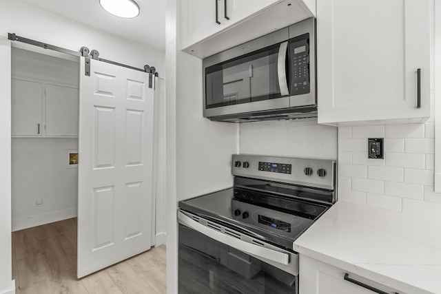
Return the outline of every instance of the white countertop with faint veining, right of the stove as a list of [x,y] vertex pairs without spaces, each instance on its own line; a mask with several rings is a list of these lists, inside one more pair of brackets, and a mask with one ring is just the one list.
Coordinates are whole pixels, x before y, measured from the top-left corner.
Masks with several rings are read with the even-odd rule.
[[300,235],[294,251],[398,291],[441,294],[438,219],[337,202]]

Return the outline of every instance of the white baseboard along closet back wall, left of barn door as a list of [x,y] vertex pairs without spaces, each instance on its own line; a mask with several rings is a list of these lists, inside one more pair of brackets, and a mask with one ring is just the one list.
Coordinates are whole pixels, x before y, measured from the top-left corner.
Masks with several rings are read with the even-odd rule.
[[65,209],[62,211],[54,211],[52,213],[41,214],[40,216],[30,216],[14,220],[12,216],[12,231],[19,231],[32,227],[41,226],[41,224],[49,224],[50,222],[58,222],[59,220],[67,220],[78,216],[78,209]]

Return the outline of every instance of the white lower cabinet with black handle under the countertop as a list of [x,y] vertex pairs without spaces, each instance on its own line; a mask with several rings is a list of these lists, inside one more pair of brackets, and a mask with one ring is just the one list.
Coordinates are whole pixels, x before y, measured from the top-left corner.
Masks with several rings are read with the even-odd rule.
[[407,294],[302,254],[299,262],[300,294]]

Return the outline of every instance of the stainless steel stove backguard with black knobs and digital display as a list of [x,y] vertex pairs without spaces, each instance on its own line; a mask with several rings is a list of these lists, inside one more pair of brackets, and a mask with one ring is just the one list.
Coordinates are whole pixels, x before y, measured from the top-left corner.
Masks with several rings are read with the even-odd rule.
[[334,190],[336,160],[234,154],[232,174]]

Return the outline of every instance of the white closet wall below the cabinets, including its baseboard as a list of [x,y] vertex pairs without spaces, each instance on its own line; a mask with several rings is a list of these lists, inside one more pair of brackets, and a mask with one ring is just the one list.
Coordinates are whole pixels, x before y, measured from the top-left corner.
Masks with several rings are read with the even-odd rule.
[[[77,138],[12,138],[12,231],[77,216]],[[41,199],[43,204],[37,205]]]

